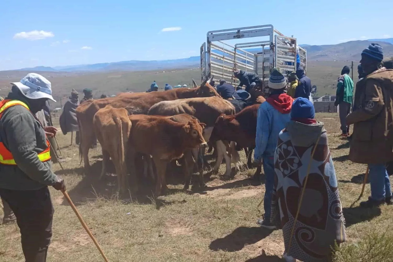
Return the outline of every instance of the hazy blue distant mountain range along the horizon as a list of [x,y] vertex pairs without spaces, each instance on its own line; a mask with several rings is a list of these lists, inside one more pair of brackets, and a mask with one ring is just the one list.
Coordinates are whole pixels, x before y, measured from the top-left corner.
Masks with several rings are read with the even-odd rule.
[[[359,61],[360,53],[371,42],[377,42],[384,48],[384,56],[393,56],[393,38],[389,39],[370,39],[365,41],[350,41],[340,44],[331,45],[308,45],[303,44],[301,47],[307,50],[308,61]],[[249,52],[256,53],[260,49],[248,49]],[[37,66],[33,68],[22,68],[19,71],[31,72],[107,72],[107,71],[143,71],[157,70],[168,68],[192,68],[200,66],[200,57],[192,56],[189,58],[172,59],[172,60],[154,60],[154,61],[121,61],[113,63],[99,63],[92,65],[74,65],[74,66]]]

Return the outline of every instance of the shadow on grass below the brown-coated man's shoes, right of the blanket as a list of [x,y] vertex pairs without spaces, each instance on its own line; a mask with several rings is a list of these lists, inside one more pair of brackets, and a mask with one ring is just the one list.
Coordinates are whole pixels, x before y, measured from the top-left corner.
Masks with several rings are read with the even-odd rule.
[[379,207],[375,208],[362,208],[360,206],[353,208],[343,208],[345,218],[345,227],[350,227],[357,223],[370,221],[373,218],[380,216],[381,210]]

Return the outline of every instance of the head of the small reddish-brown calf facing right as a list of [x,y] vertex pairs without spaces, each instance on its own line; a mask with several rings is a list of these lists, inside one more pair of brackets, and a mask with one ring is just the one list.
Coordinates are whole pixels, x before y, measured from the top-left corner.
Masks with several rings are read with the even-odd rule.
[[205,126],[204,123],[198,123],[197,119],[190,120],[183,126],[181,135],[186,148],[196,148],[197,146],[205,148],[207,146],[202,135]]

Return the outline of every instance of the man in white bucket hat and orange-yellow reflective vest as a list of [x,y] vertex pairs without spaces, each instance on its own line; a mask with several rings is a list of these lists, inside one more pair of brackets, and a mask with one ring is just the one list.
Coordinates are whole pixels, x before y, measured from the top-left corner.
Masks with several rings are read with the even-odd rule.
[[51,83],[28,74],[0,102],[0,196],[15,213],[26,262],[45,262],[52,236],[53,206],[48,186],[65,190],[51,171],[50,144],[35,113],[52,97]]

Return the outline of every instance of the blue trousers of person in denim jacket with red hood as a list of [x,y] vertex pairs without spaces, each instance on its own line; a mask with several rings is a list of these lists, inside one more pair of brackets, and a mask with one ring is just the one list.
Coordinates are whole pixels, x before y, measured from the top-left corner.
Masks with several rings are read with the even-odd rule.
[[263,200],[263,208],[265,210],[264,219],[270,221],[270,214],[272,208],[272,193],[274,186],[274,157],[262,157],[263,172],[266,177],[265,196]]

